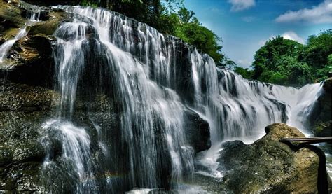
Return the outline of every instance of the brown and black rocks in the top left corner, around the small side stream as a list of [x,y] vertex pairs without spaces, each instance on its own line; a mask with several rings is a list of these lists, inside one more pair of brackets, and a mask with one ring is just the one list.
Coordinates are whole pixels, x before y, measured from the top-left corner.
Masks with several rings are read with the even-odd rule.
[[27,36],[15,41],[1,62],[0,78],[52,88],[55,70],[52,45],[56,39],[51,35],[60,22],[66,20],[67,14],[43,8],[41,19],[46,21],[28,22],[25,17],[32,9],[36,6],[24,3],[19,7],[0,1],[0,18],[4,20],[0,22],[2,42],[13,39],[24,27],[27,31]]

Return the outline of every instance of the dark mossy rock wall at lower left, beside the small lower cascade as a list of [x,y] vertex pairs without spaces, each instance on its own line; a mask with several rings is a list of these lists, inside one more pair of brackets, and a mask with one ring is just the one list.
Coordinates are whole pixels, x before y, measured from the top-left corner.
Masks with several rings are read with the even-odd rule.
[[0,80],[0,193],[41,191],[41,123],[55,92]]

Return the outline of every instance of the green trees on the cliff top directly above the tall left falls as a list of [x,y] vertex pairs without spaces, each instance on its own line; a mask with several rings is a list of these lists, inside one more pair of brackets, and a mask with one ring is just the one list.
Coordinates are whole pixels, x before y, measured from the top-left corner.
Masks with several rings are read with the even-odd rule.
[[159,32],[178,36],[198,50],[210,55],[216,64],[224,62],[221,38],[202,26],[195,13],[184,7],[184,0],[82,0],[82,6],[103,6],[130,18],[145,22]]

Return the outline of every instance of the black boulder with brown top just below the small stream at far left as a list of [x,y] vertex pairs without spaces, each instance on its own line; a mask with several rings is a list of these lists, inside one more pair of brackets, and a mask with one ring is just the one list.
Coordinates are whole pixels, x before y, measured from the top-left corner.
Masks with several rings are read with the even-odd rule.
[[53,83],[53,36],[25,36],[18,40],[0,65],[0,78],[15,83],[50,87]]

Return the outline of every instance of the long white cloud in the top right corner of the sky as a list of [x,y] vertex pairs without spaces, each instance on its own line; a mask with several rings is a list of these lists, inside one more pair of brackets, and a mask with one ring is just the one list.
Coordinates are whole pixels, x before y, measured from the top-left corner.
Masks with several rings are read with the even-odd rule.
[[332,23],[332,0],[325,0],[318,6],[304,8],[299,11],[287,11],[279,15],[276,22],[310,22],[310,23]]

